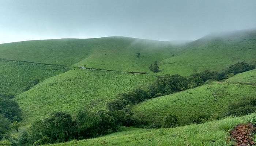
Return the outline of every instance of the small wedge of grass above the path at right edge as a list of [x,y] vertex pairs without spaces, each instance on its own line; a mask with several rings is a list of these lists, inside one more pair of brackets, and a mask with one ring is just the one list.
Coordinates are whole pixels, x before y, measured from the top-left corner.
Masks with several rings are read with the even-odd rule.
[[256,85],[256,69],[236,74],[234,77],[231,77],[226,81],[237,84]]

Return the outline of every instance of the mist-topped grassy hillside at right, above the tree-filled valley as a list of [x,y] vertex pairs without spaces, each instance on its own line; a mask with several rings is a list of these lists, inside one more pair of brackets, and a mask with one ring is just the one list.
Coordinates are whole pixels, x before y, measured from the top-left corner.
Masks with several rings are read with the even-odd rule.
[[[242,54],[242,55],[241,55]],[[160,62],[160,74],[187,76],[202,70],[222,70],[245,61],[256,64],[256,30],[213,34],[188,43],[185,49]]]

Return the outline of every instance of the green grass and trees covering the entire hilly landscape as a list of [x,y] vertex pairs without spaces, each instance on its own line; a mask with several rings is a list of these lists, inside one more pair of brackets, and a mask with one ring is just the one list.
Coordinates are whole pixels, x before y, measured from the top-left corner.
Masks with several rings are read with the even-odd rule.
[[[0,145],[16,145],[10,136],[16,131],[18,145],[39,145],[110,134],[120,126],[169,128],[254,112],[256,73],[245,71],[256,63],[255,44],[256,31],[186,45],[127,37],[0,44]],[[67,145],[231,145],[227,130],[239,122],[126,128]]]

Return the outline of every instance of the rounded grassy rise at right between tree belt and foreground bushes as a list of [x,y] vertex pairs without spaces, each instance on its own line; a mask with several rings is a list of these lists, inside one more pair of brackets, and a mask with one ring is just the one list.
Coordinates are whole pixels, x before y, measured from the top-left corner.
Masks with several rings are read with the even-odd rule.
[[256,86],[211,82],[201,87],[157,97],[134,105],[132,111],[148,125],[160,124],[169,113],[178,117],[180,126],[193,123],[196,117],[222,117],[227,106],[243,97],[255,97]]

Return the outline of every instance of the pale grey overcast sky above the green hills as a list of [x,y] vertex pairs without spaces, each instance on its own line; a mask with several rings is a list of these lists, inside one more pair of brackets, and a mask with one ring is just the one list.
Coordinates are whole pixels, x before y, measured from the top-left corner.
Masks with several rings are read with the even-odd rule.
[[256,0],[0,0],[0,43],[126,36],[195,40],[256,28]]

